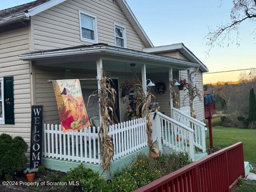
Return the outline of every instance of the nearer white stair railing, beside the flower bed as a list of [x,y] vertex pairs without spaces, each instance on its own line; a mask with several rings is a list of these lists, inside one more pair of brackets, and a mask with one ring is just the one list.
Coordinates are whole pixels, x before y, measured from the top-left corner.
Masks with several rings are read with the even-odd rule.
[[157,112],[156,115],[152,113],[152,118],[154,118],[152,138],[158,140],[160,150],[162,142],[173,151],[188,152],[190,158],[194,160],[194,130],[160,112]]

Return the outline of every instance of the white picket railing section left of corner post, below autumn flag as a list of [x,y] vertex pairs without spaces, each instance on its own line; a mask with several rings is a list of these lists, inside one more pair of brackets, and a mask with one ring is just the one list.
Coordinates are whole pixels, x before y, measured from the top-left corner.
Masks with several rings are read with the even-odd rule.
[[98,146],[95,127],[64,133],[61,125],[44,124],[44,157],[100,164]]

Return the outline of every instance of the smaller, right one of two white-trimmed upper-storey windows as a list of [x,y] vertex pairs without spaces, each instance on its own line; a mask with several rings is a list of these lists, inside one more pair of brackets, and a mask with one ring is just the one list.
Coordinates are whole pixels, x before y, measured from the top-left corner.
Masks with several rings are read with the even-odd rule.
[[126,47],[126,28],[114,23],[115,44],[118,47]]

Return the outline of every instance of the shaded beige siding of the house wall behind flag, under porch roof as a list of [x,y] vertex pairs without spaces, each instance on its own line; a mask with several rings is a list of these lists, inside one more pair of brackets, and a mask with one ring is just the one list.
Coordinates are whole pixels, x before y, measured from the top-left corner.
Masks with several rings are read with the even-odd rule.
[[[82,69],[71,69],[74,78],[95,78],[96,70],[82,70]],[[56,104],[56,98],[54,95],[54,90],[52,83],[48,83],[47,80],[63,79],[65,68],[56,68],[48,66],[35,66],[35,77],[36,77],[36,104],[44,105],[44,122],[49,124],[60,123],[58,116],[58,108]],[[132,80],[133,74],[124,72],[110,72],[112,78],[118,78],[119,86],[126,79]],[[140,75],[138,74],[140,78]],[[86,104],[86,110],[88,112],[89,118],[93,116],[98,116],[98,102],[97,100],[92,107],[90,103],[87,107],[88,96],[90,96],[94,90],[97,90],[96,80],[84,80],[80,81],[84,102]],[[128,102],[123,102],[122,100],[122,90],[119,88],[119,103],[120,103],[120,120],[124,122],[127,120],[127,106]]]

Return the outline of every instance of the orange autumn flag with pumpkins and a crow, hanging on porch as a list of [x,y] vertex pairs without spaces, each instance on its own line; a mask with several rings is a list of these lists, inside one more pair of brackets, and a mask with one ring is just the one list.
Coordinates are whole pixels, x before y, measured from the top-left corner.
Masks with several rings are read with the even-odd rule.
[[53,80],[63,132],[78,131],[90,126],[78,79]]

